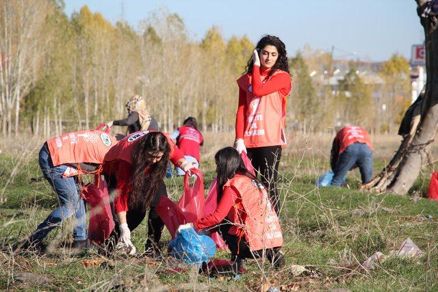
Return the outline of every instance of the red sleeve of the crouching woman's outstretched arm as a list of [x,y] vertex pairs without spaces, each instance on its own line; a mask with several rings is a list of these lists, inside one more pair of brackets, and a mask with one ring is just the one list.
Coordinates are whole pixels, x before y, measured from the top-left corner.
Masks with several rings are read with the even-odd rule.
[[[224,187],[222,198],[220,198],[216,210],[210,215],[196,220],[193,223],[194,228],[196,230],[199,230],[210,226],[215,226],[222,222],[222,220],[224,220],[227,215],[230,215],[229,217],[232,217],[231,213],[236,211],[236,209],[233,207],[242,206],[240,202],[242,202],[242,199],[237,196],[236,192],[233,191],[231,187]],[[242,213],[242,210],[238,209],[237,212]]]

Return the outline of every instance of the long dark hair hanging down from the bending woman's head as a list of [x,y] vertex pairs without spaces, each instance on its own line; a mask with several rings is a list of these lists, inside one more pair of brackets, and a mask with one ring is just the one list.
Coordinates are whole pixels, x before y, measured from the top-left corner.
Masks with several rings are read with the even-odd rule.
[[[154,155],[163,152],[162,159],[152,163]],[[161,132],[151,132],[140,138],[133,154],[133,176],[129,208],[147,209],[166,175],[170,144]]]

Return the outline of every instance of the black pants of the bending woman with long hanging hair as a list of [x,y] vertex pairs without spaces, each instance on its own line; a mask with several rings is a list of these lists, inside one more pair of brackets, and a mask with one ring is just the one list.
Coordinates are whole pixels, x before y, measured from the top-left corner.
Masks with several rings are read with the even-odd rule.
[[[117,185],[116,176],[105,175],[105,181],[107,181],[108,191],[110,191],[111,194],[112,191],[116,189],[116,185]],[[155,206],[157,206],[160,196],[167,197],[167,189],[166,189],[166,185],[164,184],[164,181],[159,185],[159,189],[155,194],[155,198],[151,203],[151,207],[149,208],[148,234],[146,238],[145,250],[148,249],[152,249],[154,251],[159,250],[159,239],[161,239],[162,237],[164,222],[155,211]],[[111,237],[114,238],[116,241],[118,241],[118,237],[120,236],[120,228],[118,226],[119,223],[118,223],[116,212],[114,210],[114,204],[112,202],[111,202],[111,209],[114,217],[114,222],[116,223],[114,232],[112,233]],[[136,229],[137,226],[139,226],[140,223],[142,223],[144,217],[146,216],[146,211],[147,210],[144,208],[129,209],[127,211],[126,220],[129,230],[132,231]]]

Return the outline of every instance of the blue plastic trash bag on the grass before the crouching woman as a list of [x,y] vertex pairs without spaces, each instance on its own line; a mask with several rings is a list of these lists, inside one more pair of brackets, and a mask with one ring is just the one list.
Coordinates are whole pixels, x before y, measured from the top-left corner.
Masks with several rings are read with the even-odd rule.
[[169,243],[170,255],[188,263],[201,265],[216,253],[216,243],[207,235],[198,235],[194,228],[181,230]]

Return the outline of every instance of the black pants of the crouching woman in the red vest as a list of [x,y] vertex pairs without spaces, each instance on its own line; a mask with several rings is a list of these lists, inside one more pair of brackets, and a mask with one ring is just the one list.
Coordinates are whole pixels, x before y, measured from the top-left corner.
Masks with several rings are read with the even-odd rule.
[[[253,250],[251,251],[245,237],[239,239],[236,235],[229,234],[229,229],[232,224],[223,221],[219,225],[219,232],[224,239],[229,250],[231,251],[231,260],[239,261],[244,258],[260,258],[263,255],[263,250]],[[269,261],[272,261],[275,254],[279,251],[279,248],[267,248],[265,250],[266,257]]]

